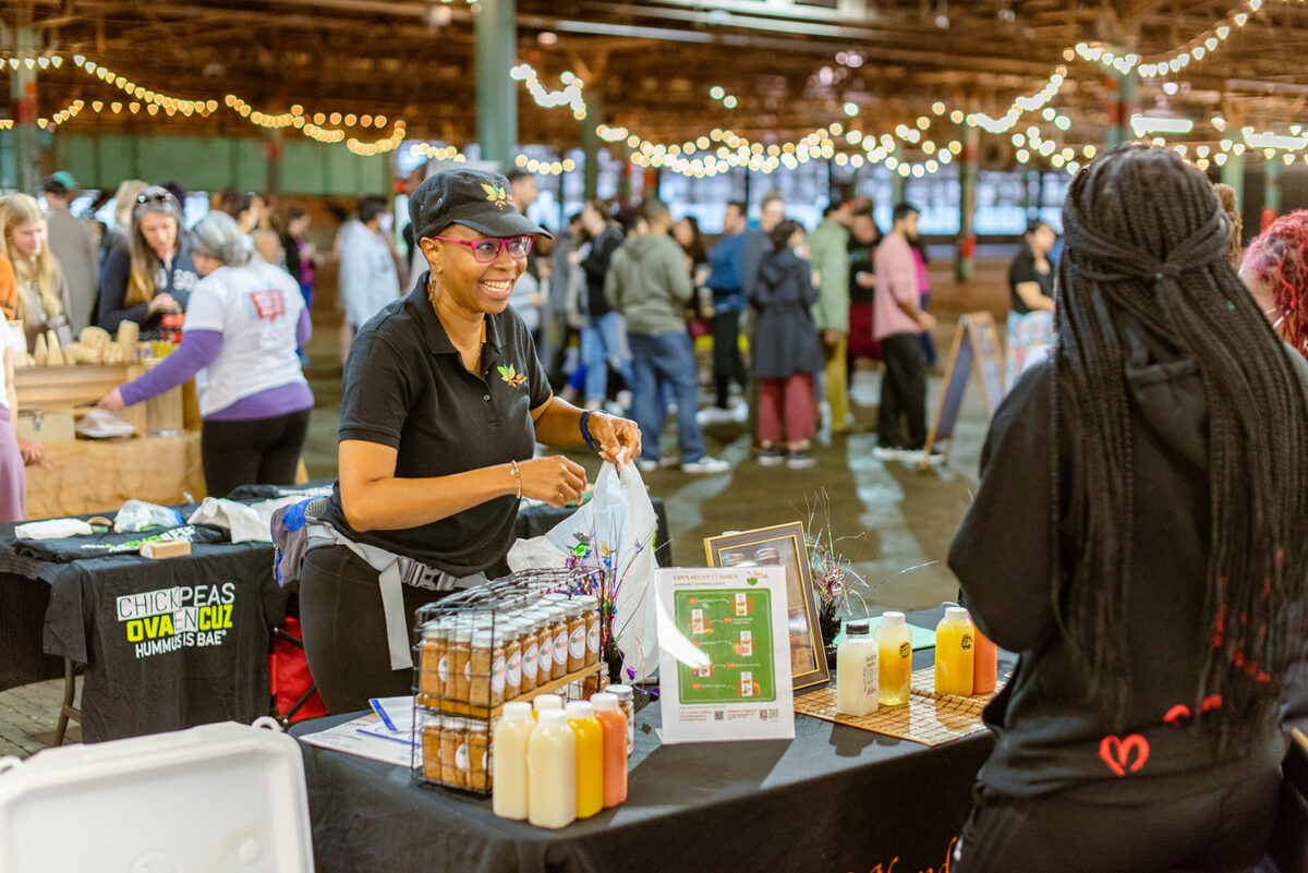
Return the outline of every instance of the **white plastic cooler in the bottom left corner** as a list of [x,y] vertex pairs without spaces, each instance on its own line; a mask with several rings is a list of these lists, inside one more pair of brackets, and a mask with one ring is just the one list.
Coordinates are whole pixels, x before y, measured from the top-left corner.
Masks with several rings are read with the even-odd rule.
[[280,729],[207,724],[0,759],[0,873],[313,869],[303,763]]

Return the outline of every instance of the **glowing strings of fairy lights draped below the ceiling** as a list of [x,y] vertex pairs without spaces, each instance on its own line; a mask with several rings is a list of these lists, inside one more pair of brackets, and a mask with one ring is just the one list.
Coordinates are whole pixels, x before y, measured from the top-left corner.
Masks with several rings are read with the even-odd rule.
[[[1244,0],[1239,7],[1227,13],[1211,27],[1189,39],[1182,46],[1169,52],[1143,58],[1134,52],[1124,52],[1101,43],[1078,43],[1075,47],[1063,51],[1067,61],[1080,59],[1086,63],[1103,65],[1118,74],[1135,73],[1143,78],[1165,78],[1180,73],[1192,63],[1202,61],[1227,44],[1230,38],[1244,27],[1250,16],[1277,0]],[[1305,0],[1279,0],[1303,4]],[[92,112],[111,112],[114,115],[140,114],[156,116],[164,112],[166,116],[181,114],[183,116],[199,115],[208,118],[215,114],[220,103],[215,99],[188,99],[174,94],[145,88],[131,78],[109,69],[102,64],[82,55],[72,56],[73,64],[84,73],[99,78],[116,88],[126,99],[114,101],[82,101],[76,99],[48,118],[37,119],[38,127],[43,129],[59,127],[76,119],[85,110]],[[41,58],[8,58],[0,59],[0,68],[8,64],[10,69],[47,69],[59,68],[64,58],[58,54]],[[577,120],[585,120],[587,106],[585,99],[585,82],[576,73],[565,71],[560,74],[561,88],[551,90],[547,88],[540,74],[526,63],[519,63],[510,71],[510,77],[523,84],[527,93],[544,108],[568,108]],[[610,127],[600,124],[596,129],[607,142],[623,142],[629,149],[629,159],[640,167],[664,167],[671,171],[693,176],[708,178],[719,173],[727,173],[736,167],[747,167],[753,171],[772,173],[777,169],[795,169],[808,161],[828,159],[837,166],[859,169],[863,166],[884,165],[892,173],[904,178],[922,178],[938,173],[944,166],[952,163],[963,150],[963,144],[956,136],[965,127],[976,127],[995,136],[1010,135],[1014,146],[1012,157],[1019,165],[1031,161],[1048,161],[1054,169],[1063,169],[1075,173],[1083,161],[1092,159],[1096,146],[1084,145],[1079,150],[1059,145],[1046,139],[1041,131],[1041,124],[1050,124],[1059,132],[1071,128],[1071,119],[1059,112],[1050,103],[1058,97],[1067,81],[1067,68],[1059,64],[1050,73],[1045,85],[1033,94],[1016,97],[1012,103],[998,115],[985,112],[965,112],[960,108],[951,108],[943,101],[937,101],[931,106],[931,114],[942,122],[947,119],[954,127],[944,139],[933,139],[927,133],[933,127],[933,118],[922,115],[914,124],[899,124],[893,133],[876,135],[858,129],[857,118],[859,107],[848,102],[842,106],[844,115],[848,116],[850,128],[845,123],[832,124],[811,131],[803,137],[787,142],[759,142],[751,141],[729,128],[714,128],[713,131],[685,140],[683,142],[657,142],[642,137],[624,127]],[[738,98],[729,94],[721,86],[709,89],[709,97],[719,102],[725,108],[731,110],[738,105]],[[391,152],[404,141],[407,123],[404,119],[391,122],[385,115],[352,114],[352,112],[307,112],[302,106],[292,106],[289,111],[268,112],[260,110],[235,94],[228,94],[222,107],[230,110],[251,124],[264,129],[293,129],[302,136],[323,144],[344,144],[352,153],[360,156],[375,156]],[[1024,131],[1014,132],[1022,119],[1032,112],[1040,112],[1040,122],[1029,124]],[[1135,116],[1134,120],[1141,116]],[[0,129],[13,125],[10,119],[0,119]],[[369,137],[366,131],[383,131],[390,125],[388,133]],[[1211,125],[1218,136],[1227,132],[1227,124],[1220,116],[1211,119]],[[356,133],[351,133],[356,131]],[[1228,156],[1241,156],[1245,152],[1261,152],[1269,161],[1278,154],[1286,165],[1294,163],[1301,154],[1308,163],[1308,135],[1304,135],[1299,125],[1291,125],[1288,133],[1273,131],[1254,131],[1243,128],[1240,131],[1243,141],[1235,136],[1223,136],[1218,145],[1206,144],[1188,145],[1184,142],[1169,144],[1163,136],[1148,137],[1146,132],[1137,129],[1137,136],[1142,140],[1158,145],[1171,145],[1188,159],[1193,159],[1199,169],[1207,169],[1210,162],[1222,166]],[[1057,137],[1057,135],[1054,135]],[[467,156],[453,145],[432,145],[416,142],[409,146],[415,156],[454,162],[467,161]],[[913,159],[908,157],[912,153]],[[531,173],[561,174],[574,169],[572,159],[543,161],[528,154],[518,154],[515,158],[518,167]]]

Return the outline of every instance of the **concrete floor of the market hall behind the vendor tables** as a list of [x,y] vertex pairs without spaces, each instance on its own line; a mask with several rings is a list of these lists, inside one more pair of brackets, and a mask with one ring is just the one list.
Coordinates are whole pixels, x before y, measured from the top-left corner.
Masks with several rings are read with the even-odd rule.
[[[997,252],[978,263],[969,282],[956,282],[948,264],[937,260],[930,272],[931,311],[940,324],[937,348],[943,357],[950,349],[957,315],[976,310],[993,312],[997,320],[1007,310],[1005,272],[1008,252]],[[982,252],[982,257],[985,254]],[[310,384],[317,397],[305,464],[313,478],[336,474],[336,426],[340,412],[339,315],[315,312],[315,336],[310,342]],[[1002,324],[1002,321],[1001,321]],[[939,376],[930,379],[927,416],[935,410]],[[667,506],[672,557],[679,566],[704,566],[704,538],[726,531],[748,531],[787,521],[814,520],[812,531],[825,527],[825,512],[812,506],[825,501],[831,533],[837,550],[852,562],[863,583],[853,583],[855,614],[879,614],[883,609],[921,609],[952,600],[957,582],[944,566],[950,538],[968,503],[976,478],[977,460],[986,431],[986,409],[981,388],[968,386],[947,464],[920,473],[899,461],[883,463],[872,455],[876,444],[876,397],[879,374],[855,374],[852,397],[855,433],[832,438],[819,434],[814,455],[818,465],[808,470],[763,468],[749,456],[749,435],[744,425],[718,425],[705,429],[708,451],[730,461],[719,476],[688,476],[680,470],[658,470],[646,476],[651,494]],[[670,422],[664,440],[674,440]],[[569,452],[586,467],[591,481],[599,473],[599,459],[586,452]],[[61,695],[61,680],[38,682],[0,693],[0,757],[26,757],[54,738]],[[71,725],[67,742],[78,742],[81,732]]]

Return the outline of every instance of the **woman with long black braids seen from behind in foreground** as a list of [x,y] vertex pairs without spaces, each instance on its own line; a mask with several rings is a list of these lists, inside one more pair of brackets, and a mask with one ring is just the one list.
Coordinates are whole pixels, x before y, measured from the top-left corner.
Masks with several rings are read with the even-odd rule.
[[1304,636],[1308,363],[1168,149],[1082,170],[1057,340],[995,414],[950,549],[1020,652],[952,870],[1245,870],[1275,821]]

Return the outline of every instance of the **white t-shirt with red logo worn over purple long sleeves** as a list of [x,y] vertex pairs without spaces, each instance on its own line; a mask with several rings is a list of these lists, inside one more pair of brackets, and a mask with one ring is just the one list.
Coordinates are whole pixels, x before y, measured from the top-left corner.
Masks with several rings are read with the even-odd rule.
[[305,299],[286,271],[251,259],[220,267],[195,286],[183,331],[220,331],[222,349],[196,379],[200,414],[269,388],[305,382],[296,329]]

